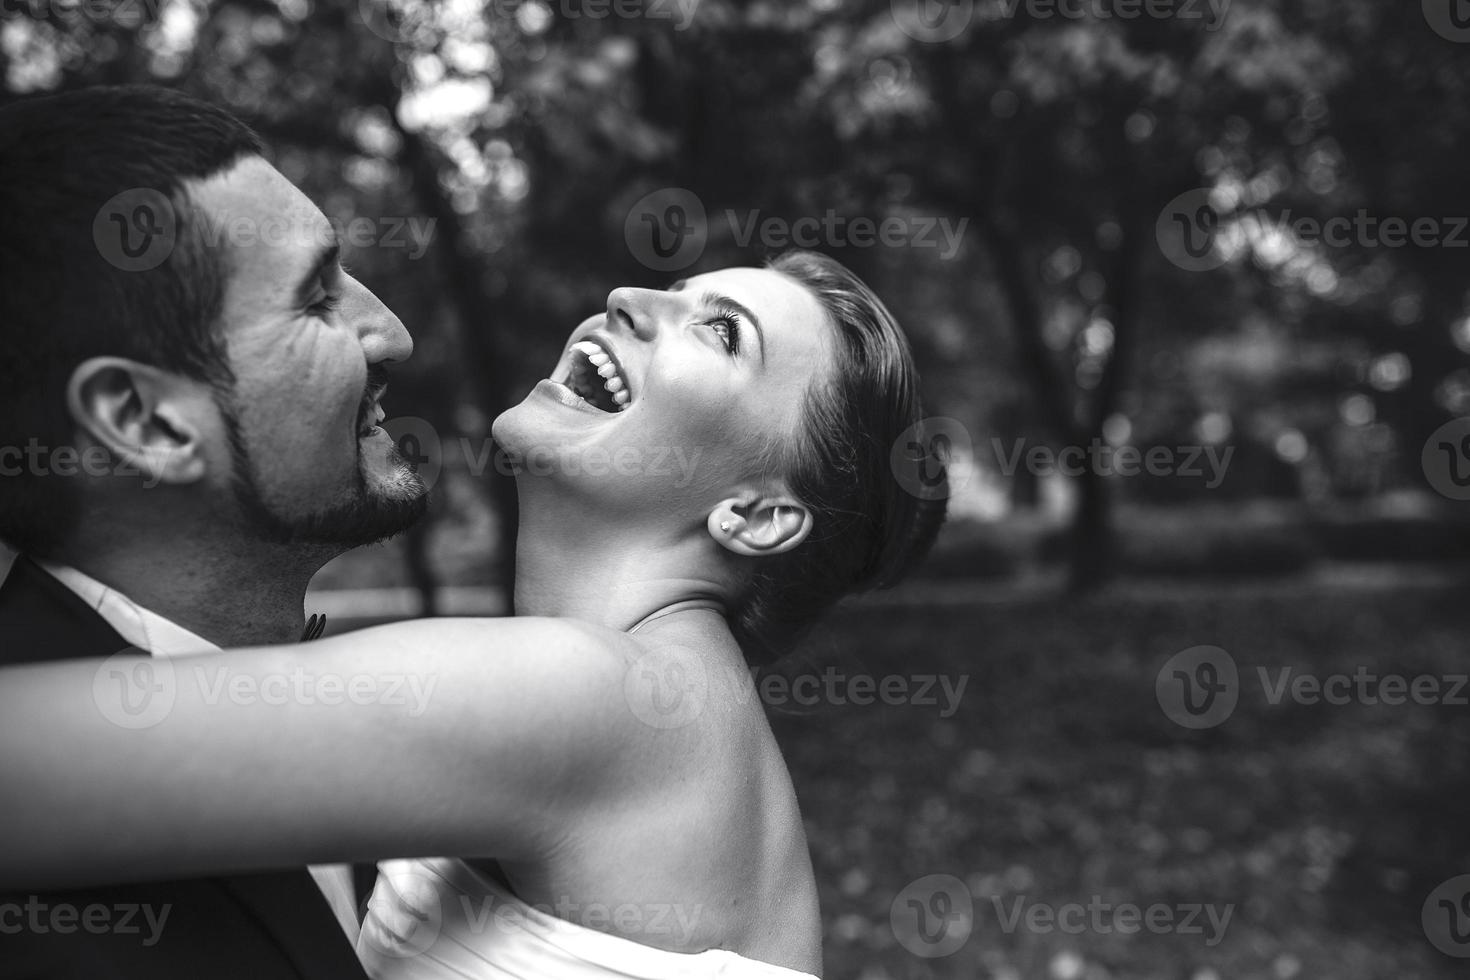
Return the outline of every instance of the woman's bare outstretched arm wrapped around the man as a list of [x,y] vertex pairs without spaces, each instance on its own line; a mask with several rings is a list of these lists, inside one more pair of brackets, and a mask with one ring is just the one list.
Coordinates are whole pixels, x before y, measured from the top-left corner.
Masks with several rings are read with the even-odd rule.
[[0,889],[532,857],[678,751],[626,698],[639,649],[567,620],[423,620],[0,670]]

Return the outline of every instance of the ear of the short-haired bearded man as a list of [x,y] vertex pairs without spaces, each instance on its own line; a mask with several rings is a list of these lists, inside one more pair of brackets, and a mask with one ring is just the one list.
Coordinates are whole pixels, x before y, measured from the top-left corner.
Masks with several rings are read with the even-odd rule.
[[72,372],[66,408],[93,441],[141,473],[146,486],[193,483],[207,469],[194,417],[207,400],[201,385],[125,357],[91,357]]

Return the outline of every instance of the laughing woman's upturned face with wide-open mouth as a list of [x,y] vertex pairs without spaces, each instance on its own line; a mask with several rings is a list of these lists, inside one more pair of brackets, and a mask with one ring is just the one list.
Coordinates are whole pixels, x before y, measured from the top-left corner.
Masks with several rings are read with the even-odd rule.
[[789,442],[831,372],[832,339],[816,295],[769,269],[614,289],[494,435],[528,473],[600,507],[703,519],[760,488],[764,451]]

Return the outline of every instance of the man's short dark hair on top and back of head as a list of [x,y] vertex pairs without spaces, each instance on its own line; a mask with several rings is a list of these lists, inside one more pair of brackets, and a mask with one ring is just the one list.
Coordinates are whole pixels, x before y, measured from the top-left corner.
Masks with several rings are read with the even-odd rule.
[[[81,361],[232,383],[218,323],[228,270],[185,182],[262,150],[223,109],[148,85],[0,109],[0,538],[44,557],[72,523],[75,480],[16,451],[74,444],[66,385]],[[148,228],[172,234],[156,264],[137,251],[147,238],[126,238]]]

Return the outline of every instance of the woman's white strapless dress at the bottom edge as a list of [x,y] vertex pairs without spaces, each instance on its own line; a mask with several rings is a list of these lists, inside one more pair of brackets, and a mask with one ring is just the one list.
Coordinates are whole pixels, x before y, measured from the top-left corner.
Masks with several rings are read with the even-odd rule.
[[[676,936],[681,929],[675,909],[578,915],[594,921],[594,911],[603,921],[641,921],[648,932]],[[456,858],[378,864],[357,958],[373,980],[816,980],[725,949],[669,952],[559,918]]]

